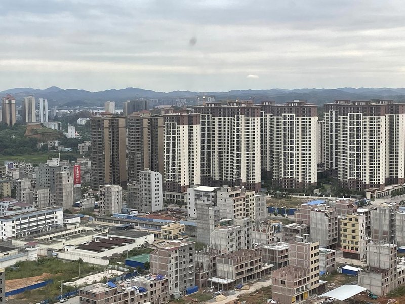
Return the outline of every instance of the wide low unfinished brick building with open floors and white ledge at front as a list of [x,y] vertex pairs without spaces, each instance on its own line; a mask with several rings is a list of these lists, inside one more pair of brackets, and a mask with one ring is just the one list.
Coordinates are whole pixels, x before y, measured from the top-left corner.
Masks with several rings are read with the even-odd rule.
[[[233,289],[235,285],[260,279],[269,274],[272,265],[264,264],[262,253],[257,250],[239,250],[217,257],[217,276],[208,281],[217,290]],[[223,283],[226,282],[226,283]]]

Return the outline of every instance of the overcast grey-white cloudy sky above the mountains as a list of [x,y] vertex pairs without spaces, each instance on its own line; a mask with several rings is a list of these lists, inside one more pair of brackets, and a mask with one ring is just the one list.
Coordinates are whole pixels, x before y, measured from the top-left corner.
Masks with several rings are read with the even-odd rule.
[[0,90],[405,87],[403,1],[1,0]]

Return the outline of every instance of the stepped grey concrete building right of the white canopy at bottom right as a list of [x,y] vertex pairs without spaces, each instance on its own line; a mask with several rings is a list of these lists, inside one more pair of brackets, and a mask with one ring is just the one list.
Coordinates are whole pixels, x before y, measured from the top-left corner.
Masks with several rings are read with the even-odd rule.
[[[367,268],[358,274],[358,285],[378,296],[386,296],[398,286],[397,247],[394,244],[367,245]],[[402,279],[402,278],[401,278]]]

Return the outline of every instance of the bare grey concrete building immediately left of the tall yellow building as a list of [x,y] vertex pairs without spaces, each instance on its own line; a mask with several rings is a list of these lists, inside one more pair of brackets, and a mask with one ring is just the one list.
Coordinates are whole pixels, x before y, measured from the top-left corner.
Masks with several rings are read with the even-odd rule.
[[335,209],[321,204],[311,210],[311,241],[334,249],[338,246],[338,215]]

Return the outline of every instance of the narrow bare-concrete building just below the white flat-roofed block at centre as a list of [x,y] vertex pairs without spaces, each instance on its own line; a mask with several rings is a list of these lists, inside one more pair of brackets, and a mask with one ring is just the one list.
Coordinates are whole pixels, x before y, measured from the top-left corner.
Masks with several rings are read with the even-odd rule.
[[220,224],[219,207],[212,206],[206,197],[201,197],[195,203],[197,214],[197,241],[210,244],[210,235]]

